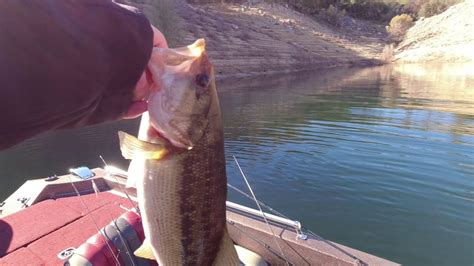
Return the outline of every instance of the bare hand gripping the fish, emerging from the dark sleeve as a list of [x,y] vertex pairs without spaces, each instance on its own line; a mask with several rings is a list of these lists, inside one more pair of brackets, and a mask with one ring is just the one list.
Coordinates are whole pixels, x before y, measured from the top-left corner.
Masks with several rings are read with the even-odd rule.
[[[153,29],[153,47],[168,48],[168,43],[166,42],[163,33],[153,25],[151,25],[151,28]],[[148,110],[148,95],[150,94],[152,86],[153,80],[147,66],[135,86],[133,101],[127,112],[125,112],[125,115],[123,116],[124,119],[135,118]]]

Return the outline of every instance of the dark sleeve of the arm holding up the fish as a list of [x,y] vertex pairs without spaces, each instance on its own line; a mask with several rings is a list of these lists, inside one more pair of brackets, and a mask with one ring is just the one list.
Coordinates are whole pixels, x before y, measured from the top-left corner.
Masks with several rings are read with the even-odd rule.
[[143,14],[111,1],[0,1],[0,149],[120,118],[152,40]]

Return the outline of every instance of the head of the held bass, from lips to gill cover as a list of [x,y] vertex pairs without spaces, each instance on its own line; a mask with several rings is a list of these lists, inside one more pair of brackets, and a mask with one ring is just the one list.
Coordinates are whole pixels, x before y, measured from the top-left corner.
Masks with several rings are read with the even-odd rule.
[[157,67],[150,70],[161,86],[148,98],[150,125],[160,139],[190,150],[205,132],[212,103],[208,87],[213,72],[205,41],[199,39],[176,49],[155,49],[150,64]]

